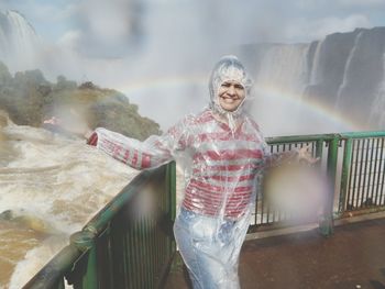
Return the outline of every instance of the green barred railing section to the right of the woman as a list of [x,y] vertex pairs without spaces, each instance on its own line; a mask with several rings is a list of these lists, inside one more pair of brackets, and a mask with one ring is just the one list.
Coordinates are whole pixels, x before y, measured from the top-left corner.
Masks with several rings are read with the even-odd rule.
[[[385,132],[294,135],[268,137],[271,152],[309,146],[329,181],[321,232],[332,233],[333,220],[385,209]],[[270,208],[257,194],[250,232],[293,224],[287,216]],[[293,215],[290,215],[293,218]]]

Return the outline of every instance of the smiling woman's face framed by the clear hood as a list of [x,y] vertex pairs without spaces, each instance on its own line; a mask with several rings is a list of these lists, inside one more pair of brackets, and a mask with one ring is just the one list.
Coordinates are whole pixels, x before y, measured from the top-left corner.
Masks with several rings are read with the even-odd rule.
[[244,87],[238,81],[227,80],[219,87],[218,97],[223,110],[234,111],[245,97]]

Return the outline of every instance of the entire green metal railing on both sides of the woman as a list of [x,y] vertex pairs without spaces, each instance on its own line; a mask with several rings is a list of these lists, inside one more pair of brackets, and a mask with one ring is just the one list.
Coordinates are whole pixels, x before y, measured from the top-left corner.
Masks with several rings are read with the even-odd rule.
[[[272,152],[308,145],[328,175],[321,233],[333,220],[385,209],[385,132],[267,138]],[[24,288],[162,288],[175,253],[175,165],[140,174]],[[257,194],[250,231],[285,221]]]

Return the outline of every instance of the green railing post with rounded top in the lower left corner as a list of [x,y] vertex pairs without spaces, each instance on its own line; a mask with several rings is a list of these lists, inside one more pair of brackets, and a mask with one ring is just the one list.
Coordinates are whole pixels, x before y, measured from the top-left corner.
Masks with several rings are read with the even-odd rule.
[[70,236],[70,243],[85,254],[88,254],[88,257],[85,258],[85,264],[76,264],[76,267],[85,266],[85,268],[82,270],[77,268],[76,273],[80,274],[80,276],[73,276],[76,280],[74,288],[97,289],[98,270],[95,235],[88,231],[76,232]]

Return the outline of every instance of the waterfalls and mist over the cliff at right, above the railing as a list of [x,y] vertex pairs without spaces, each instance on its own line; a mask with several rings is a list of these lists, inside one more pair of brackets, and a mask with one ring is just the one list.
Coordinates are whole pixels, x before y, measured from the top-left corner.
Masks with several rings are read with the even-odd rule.
[[[242,53],[244,62],[251,63],[256,71],[260,95],[266,97],[264,90],[274,88],[280,95],[292,96],[300,105],[321,105],[331,114],[358,123],[355,126],[361,130],[384,129],[376,103],[384,97],[385,27],[334,33],[310,44],[246,45]],[[258,102],[260,110],[253,114],[263,114],[264,104]],[[297,118],[296,107],[280,109],[279,102],[275,105],[277,109],[271,111],[282,111],[283,119]],[[298,123],[304,121],[307,119]],[[338,127],[328,129],[339,132]]]

